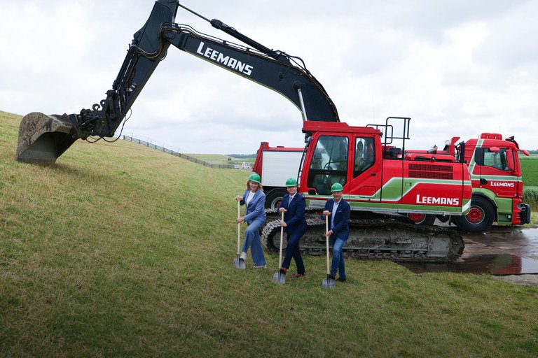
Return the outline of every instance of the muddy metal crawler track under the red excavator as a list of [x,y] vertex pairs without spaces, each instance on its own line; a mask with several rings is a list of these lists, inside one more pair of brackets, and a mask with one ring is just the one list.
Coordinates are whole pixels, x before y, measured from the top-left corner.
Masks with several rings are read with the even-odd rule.
[[[269,252],[278,252],[280,220],[273,211],[266,210],[268,220],[261,240]],[[301,253],[324,255],[325,223],[314,211],[306,213],[306,222],[308,231],[301,238]],[[374,214],[350,219],[350,238],[343,251],[358,259],[443,263],[455,261],[462,255],[463,248],[462,236],[449,227],[420,226],[406,222],[406,218],[399,215]]]

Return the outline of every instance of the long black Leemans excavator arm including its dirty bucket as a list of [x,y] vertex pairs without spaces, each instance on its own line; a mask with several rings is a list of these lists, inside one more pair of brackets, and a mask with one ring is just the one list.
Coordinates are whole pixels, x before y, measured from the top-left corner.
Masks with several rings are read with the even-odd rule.
[[146,24],[135,33],[105,99],[78,114],[26,115],[19,128],[17,159],[54,163],[79,138],[113,136],[170,45],[275,90],[299,108],[303,120],[339,122],[336,106],[301,59],[270,50],[220,20],[210,22],[248,46],[176,24],[179,6],[177,0],[156,1]]

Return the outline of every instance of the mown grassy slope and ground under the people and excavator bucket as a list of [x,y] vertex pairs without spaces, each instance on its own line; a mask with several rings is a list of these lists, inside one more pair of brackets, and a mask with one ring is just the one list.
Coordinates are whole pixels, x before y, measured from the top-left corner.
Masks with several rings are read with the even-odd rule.
[[348,259],[327,291],[324,257],[281,287],[277,256],[231,264],[244,171],[124,141],[22,164],[19,121],[0,112],[0,357],[538,354],[536,288]]

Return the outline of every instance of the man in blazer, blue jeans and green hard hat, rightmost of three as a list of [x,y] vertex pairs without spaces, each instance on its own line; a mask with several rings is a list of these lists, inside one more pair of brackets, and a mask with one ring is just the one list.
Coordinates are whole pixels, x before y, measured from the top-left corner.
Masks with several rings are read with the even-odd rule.
[[336,182],[331,187],[333,199],[327,200],[322,213],[322,220],[329,216],[329,243],[333,246],[333,262],[331,264],[331,274],[329,278],[336,279],[338,273],[338,281],[345,282],[345,262],[342,248],[345,245],[347,238],[350,237],[350,213],[351,207],[344,199],[342,199],[343,187],[339,182]]

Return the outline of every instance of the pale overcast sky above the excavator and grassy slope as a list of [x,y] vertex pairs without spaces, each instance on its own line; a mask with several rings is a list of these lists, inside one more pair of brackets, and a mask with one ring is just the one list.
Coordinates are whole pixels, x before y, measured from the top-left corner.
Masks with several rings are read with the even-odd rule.
[[[407,148],[516,136],[538,148],[538,1],[186,0],[306,63],[340,119],[411,120]],[[151,0],[0,0],[0,110],[78,113],[104,99]],[[176,22],[238,42],[179,8]],[[284,97],[170,47],[124,134],[193,153],[303,146]]]

